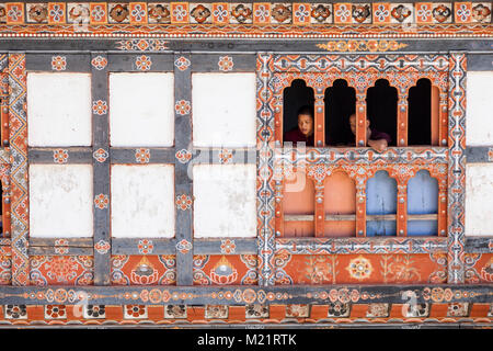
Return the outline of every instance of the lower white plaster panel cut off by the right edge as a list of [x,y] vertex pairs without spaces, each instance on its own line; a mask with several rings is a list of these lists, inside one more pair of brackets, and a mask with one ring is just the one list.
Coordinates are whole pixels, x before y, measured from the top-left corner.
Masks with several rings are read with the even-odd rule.
[[466,235],[493,236],[493,165],[466,165]]

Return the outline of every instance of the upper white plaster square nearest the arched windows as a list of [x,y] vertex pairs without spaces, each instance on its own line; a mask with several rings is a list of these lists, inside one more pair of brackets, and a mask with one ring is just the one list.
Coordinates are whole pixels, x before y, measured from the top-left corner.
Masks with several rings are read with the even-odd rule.
[[194,146],[255,146],[255,73],[193,73]]

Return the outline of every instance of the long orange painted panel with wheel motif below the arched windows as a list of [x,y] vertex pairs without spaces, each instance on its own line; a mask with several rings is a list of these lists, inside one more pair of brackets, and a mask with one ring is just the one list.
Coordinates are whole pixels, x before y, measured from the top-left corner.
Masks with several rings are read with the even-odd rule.
[[276,284],[440,284],[447,281],[446,253],[279,254]]

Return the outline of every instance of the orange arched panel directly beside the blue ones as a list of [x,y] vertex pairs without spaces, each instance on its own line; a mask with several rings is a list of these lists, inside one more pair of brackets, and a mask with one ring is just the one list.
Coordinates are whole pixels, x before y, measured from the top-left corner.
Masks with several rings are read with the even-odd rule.
[[324,184],[324,237],[356,235],[356,186],[344,172],[335,172]]

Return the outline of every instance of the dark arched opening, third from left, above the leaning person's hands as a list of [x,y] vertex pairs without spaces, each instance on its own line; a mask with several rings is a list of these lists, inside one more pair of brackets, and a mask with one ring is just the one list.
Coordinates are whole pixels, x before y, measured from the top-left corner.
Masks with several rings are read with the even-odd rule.
[[386,79],[379,79],[375,87],[368,88],[366,93],[366,117],[370,129],[387,133],[391,141],[397,143],[398,90],[389,86]]

